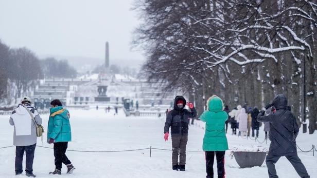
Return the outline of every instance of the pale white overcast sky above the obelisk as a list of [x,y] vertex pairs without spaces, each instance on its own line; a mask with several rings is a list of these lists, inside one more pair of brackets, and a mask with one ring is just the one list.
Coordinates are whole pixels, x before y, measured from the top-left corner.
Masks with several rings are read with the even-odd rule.
[[0,39],[27,47],[39,57],[104,60],[110,43],[111,63],[140,65],[141,51],[131,51],[139,24],[133,0],[0,0]]

